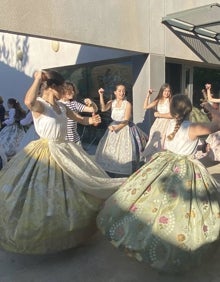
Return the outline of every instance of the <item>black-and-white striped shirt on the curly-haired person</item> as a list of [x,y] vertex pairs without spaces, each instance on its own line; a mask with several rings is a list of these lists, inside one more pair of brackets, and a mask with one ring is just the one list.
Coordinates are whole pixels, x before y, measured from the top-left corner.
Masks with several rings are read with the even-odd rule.
[[[83,112],[85,108],[84,104],[79,103],[77,101],[68,101],[68,102],[61,101],[61,102],[76,113]],[[72,141],[74,143],[77,143],[80,141],[80,136],[77,132],[77,122],[69,118],[67,118],[66,140]]]

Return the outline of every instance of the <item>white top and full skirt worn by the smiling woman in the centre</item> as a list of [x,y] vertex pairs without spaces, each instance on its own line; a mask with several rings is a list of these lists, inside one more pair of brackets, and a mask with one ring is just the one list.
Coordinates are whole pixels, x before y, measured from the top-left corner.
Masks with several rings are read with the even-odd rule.
[[[121,107],[112,102],[111,125],[124,120],[127,100]],[[130,175],[140,166],[140,154],[147,143],[146,134],[134,123],[119,131],[106,130],[96,149],[95,160],[107,172],[117,175]]]

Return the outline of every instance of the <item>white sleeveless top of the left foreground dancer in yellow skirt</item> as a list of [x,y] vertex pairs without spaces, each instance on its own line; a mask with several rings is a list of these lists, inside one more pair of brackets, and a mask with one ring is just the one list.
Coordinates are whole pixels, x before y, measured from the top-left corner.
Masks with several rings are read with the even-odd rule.
[[37,118],[33,117],[37,134],[49,140],[65,140],[67,134],[66,108],[61,102],[56,102],[61,113],[54,111],[53,107],[38,97],[44,105],[44,112]]

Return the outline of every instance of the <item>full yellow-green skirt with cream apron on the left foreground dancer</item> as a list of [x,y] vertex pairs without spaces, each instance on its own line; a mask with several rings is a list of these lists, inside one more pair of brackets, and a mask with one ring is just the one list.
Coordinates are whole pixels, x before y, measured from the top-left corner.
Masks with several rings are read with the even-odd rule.
[[72,142],[31,142],[0,172],[0,247],[45,254],[81,244],[97,231],[102,198],[122,181]]

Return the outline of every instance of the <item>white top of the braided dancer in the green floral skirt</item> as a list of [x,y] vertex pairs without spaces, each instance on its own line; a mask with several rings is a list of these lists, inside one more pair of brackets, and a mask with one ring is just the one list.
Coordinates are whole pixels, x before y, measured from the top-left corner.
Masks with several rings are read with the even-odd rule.
[[[191,155],[194,153],[197,144],[198,139],[196,140],[190,140],[189,139],[189,126],[191,122],[190,121],[184,121],[179,130],[177,131],[175,137],[173,140],[169,141],[165,140],[165,149],[179,155]],[[170,120],[168,129],[167,129],[167,135],[173,132],[176,125],[175,120]]]

